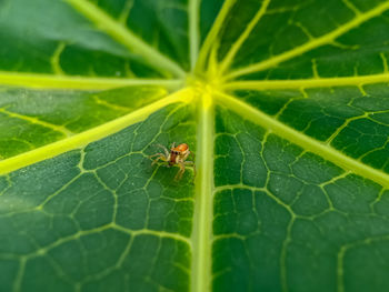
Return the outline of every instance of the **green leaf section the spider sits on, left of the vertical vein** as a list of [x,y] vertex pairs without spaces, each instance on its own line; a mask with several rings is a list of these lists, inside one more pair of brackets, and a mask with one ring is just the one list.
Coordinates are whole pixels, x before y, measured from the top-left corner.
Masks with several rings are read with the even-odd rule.
[[84,149],[0,177],[2,288],[188,290],[192,171],[174,181],[178,168],[151,165],[148,155],[160,150],[156,143],[191,145],[192,114],[173,104]]

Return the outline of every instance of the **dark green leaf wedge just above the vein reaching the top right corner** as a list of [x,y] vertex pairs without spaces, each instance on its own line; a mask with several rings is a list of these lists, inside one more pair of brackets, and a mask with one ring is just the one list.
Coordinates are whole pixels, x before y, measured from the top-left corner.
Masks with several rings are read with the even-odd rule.
[[337,0],[326,6],[320,0],[270,1],[266,14],[239,50],[235,66],[247,66],[289,51],[337,29],[352,17],[353,12]]

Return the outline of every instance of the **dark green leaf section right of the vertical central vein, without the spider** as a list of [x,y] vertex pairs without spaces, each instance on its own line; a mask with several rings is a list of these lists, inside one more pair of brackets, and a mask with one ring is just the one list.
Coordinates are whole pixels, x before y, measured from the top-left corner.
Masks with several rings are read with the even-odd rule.
[[[219,109],[216,129],[215,170],[228,179],[216,180],[215,291],[380,291],[388,284],[389,197],[380,185],[232,112]],[[236,133],[257,144],[232,147]],[[265,183],[248,181],[239,167],[251,155],[265,165]],[[239,175],[221,169],[229,163]]]

